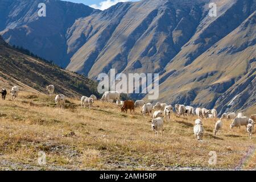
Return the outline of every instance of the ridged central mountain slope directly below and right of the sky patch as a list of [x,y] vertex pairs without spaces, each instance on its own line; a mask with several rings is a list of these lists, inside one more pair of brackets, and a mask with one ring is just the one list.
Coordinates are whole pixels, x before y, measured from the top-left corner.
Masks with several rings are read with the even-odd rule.
[[191,38],[201,16],[205,16],[201,4],[206,2],[118,3],[106,11],[80,19],[74,28],[88,24],[80,31],[85,34],[92,27],[93,30],[67,69],[93,78],[110,68],[118,72],[163,71]]

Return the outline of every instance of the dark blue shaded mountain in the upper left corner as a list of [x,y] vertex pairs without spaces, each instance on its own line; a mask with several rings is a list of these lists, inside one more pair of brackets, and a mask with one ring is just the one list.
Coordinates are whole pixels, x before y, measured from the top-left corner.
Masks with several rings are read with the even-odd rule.
[[[46,4],[46,17],[38,16],[39,3]],[[1,0],[0,34],[9,44],[22,46],[65,68],[77,49],[68,49],[69,27],[97,11],[59,0]]]

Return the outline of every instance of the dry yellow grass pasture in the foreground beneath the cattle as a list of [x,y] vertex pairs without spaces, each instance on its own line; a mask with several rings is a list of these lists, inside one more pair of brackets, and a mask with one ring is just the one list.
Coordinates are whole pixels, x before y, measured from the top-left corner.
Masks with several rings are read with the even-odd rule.
[[[9,98],[7,98],[9,99]],[[244,127],[214,137],[216,119],[203,119],[204,141],[193,136],[195,117],[164,123],[164,137],[155,137],[150,117],[122,114],[114,104],[96,101],[81,109],[69,98],[67,109],[57,109],[54,97],[23,92],[16,101],[0,101],[0,169],[255,169],[255,138]],[[74,135],[75,134],[75,135]],[[46,165],[38,164],[39,151]],[[210,165],[209,152],[217,164]],[[242,161],[242,164],[241,164]]]

